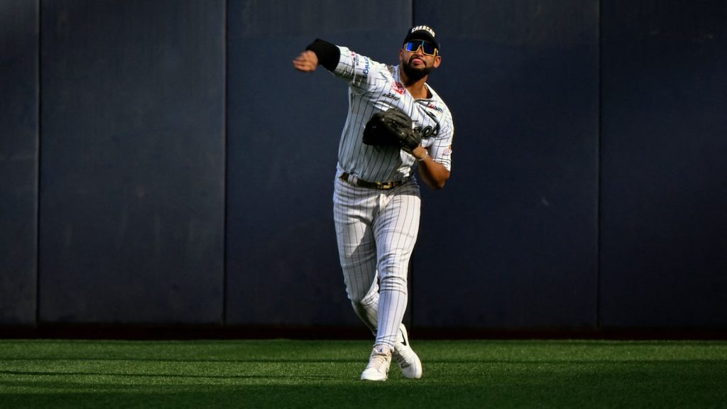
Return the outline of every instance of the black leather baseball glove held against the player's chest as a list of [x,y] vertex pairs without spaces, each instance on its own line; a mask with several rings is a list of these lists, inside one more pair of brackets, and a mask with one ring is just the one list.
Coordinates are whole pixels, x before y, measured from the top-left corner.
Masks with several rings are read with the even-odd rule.
[[398,108],[377,112],[366,122],[364,143],[374,146],[394,146],[411,154],[422,135],[411,127],[411,118]]

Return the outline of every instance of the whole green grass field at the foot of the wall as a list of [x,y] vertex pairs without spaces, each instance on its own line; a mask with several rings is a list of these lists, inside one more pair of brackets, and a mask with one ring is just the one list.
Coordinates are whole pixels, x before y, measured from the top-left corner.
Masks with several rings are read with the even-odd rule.
[[0,340],[0,408],[727,408],[724,341],[413,346],[367,383],[366,341]]

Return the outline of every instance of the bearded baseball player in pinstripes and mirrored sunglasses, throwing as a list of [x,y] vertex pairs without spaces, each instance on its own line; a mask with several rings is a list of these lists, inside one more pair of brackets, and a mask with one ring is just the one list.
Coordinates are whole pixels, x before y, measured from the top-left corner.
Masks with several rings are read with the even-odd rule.
[[376,336],[361,379],[385,381],[392,357],[406,378],[422,362],[401,323],[409,259],[419,233],[419,177],[434,189],[449,179],[454,134],[449,108],[427,84],[441,64],[427,25],[411,27],[398,65],[385,65],[316,39],[294,68],[323,65],[348,84],[349,110],[334,180],[334,222],[348,298]]

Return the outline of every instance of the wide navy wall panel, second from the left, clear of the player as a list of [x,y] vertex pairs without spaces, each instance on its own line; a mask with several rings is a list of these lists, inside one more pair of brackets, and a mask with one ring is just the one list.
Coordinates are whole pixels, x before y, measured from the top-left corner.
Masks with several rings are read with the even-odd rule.
[[41,321],[221,322],[225,2],[41,15]]

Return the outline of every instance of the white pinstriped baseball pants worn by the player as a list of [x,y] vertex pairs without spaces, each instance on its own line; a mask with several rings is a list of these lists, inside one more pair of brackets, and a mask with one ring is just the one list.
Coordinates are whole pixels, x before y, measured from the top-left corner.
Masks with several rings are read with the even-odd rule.
[[406,311],[409,259],[419,234],[419,185],[412,178],[379,190],[336,178],[333,202],[348,298],[376,335],[375,344],[393,348]]

